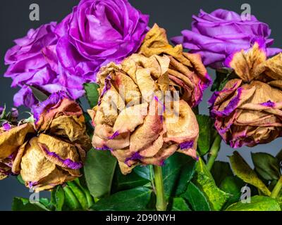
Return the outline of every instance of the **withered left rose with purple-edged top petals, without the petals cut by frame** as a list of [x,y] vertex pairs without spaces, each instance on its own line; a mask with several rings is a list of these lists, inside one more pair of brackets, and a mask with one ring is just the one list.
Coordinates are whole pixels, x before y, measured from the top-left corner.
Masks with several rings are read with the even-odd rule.
[[91,141],[82,109],[63,91],[33,108],[37,136],[25,143],[20,174],[26,186],[42,191],[80,176]]

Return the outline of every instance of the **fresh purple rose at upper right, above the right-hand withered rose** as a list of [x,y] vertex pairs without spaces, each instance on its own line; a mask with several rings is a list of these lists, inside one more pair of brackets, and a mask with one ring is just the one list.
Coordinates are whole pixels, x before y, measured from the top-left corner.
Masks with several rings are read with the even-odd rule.
[[250,20],[242,20],[238,13],[218,9],[210,14],[201,10],[192,18],[192,30],[183,30],[183,36],[174,37],[172,41],[183,44],[191,53],[200,53],[204,65],[214,69],[223,68],[226,58],[242,49],[250,49],[258,40],[266,46],[267,56],[282,51],[269,48],[274,43],[269,39],[271,30],[254,15]]

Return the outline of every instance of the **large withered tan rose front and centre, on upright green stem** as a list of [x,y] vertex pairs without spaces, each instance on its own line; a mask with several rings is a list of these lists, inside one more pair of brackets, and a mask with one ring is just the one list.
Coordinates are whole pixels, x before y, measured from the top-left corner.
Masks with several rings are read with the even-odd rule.
[[163,165],[177,150],[197,158],[199,127],[188,103],[172,97],[170,62],[168,56],[133,54],[97,75],[99,103],[89,110],[92,144],[111,150],[123,174],[135,165]]

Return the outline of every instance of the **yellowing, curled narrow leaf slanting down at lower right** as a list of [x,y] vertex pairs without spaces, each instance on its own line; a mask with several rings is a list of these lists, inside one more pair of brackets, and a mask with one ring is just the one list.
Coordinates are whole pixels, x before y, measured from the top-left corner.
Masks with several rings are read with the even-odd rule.
[[252,184],[256,188],[259,188],[264,195],[270,195],[269,189],[265,186],[264,182],[259,179],[256,172],[252,170],[252,168],[247,165],[247,162],[241,157],[241,155],[235,151],[233,155],[230,157],[231,167],[235,175],[237,175],[240,179],[245,181],[247,184]]

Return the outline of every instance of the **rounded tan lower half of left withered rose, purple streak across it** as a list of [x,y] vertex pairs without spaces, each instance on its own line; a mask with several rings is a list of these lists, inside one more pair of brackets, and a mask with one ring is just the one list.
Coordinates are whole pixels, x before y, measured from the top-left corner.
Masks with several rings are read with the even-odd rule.
[[20,174],[27,187],[48,190],[80,176],[84,158],[80,146],[40,134],[25,145]]

